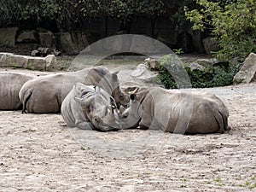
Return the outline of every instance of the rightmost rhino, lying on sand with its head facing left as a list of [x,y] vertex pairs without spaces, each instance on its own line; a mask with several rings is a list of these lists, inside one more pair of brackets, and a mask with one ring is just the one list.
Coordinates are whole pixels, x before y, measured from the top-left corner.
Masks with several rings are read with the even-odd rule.
[[130,97],[130,108],[120,108],[123,129],[139,125],[182,134],[229,130],[228,109],[215,95],[140,87]]

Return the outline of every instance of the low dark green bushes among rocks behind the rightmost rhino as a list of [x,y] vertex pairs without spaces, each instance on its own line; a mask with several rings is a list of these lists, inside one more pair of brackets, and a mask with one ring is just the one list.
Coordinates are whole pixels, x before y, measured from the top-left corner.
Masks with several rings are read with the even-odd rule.
[[[177,89],[177,82],[175,82],[172,74],[166,69],[166,65],[175,62],[177,61],[173,60],[172,55],[166,55],[160,60],[158,78],[161,83],[165,85],[166,89]],[[239,67],[234,65],[209,66],[202,71],[191,71],[189,65],[186,65],[184,68],[189,75],[190,83],[193,88],[206,88],[232,84],[233,77],[238,72]]]

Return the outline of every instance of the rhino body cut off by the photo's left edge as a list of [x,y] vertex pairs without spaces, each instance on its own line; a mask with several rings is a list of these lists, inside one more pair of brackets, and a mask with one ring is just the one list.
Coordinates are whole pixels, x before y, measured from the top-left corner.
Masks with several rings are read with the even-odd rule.
[[22,108],[19,91],[26,81],[34,78],[22,73],[0,73],[0,110],[19,110]]

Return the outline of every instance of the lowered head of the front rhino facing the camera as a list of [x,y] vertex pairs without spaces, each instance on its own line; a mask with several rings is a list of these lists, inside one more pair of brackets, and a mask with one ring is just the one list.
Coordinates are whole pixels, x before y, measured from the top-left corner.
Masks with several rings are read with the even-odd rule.
[[117,105],[112,96],[103,94],[101,88],[96,86],[95,93],[90,96],[75,96],[79,102],[84,116],[100,131],[112,131],[120,128],[119,117],[116,112]]

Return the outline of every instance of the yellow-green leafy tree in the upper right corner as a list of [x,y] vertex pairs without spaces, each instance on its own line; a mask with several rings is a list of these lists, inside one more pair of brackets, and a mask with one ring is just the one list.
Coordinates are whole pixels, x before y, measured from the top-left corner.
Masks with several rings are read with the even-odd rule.
[[218,59],[244,60],[256,51],[256,3],[253,0],[196,0],[199,9],[185,8],[194,30],[212,32],[220,48]]

